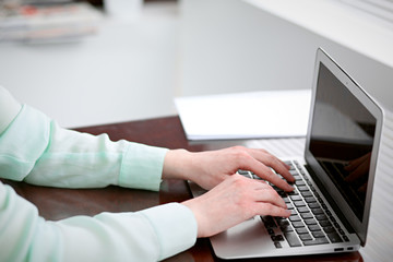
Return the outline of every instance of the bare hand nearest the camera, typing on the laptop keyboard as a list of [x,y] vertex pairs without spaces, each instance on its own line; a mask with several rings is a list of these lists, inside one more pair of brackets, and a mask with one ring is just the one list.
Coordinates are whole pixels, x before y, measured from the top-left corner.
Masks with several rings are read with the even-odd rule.
[[255,215],[290,215],[284,200],[271,186],[240,175],[227,177],[211,191],[182,204],[195,216],[198,237],[216,235]]

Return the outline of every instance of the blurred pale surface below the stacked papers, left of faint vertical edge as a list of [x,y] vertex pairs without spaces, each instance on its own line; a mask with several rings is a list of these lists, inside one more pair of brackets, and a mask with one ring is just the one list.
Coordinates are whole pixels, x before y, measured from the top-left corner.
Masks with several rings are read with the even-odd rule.
[[67,128],[175,115],[177,11],[148,3],[76,43],[0,43],[0,84]]

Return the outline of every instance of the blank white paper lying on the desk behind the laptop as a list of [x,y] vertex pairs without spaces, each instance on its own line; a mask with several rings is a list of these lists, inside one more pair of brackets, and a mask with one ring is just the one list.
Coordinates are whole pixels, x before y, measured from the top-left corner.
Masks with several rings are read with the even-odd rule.
[[262,91],[175,98],[189,140],[305,136],[311,91]]

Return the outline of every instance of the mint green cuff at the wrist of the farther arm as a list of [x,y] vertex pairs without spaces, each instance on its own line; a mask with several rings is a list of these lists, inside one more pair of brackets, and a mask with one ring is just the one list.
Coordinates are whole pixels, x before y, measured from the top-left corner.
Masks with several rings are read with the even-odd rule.
[[121,162],[119,186],[158,191],[167,151],[130,143]]

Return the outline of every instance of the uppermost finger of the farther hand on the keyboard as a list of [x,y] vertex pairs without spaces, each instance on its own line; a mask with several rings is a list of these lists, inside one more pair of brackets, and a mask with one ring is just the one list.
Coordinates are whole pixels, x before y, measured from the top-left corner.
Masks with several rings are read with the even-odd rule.
[[257,160],[263,163],[264,165],[273,168],[276,172],[282,175],[286,180],[294,182],[295,178],[289,172],[289,166],[270,154],[265,150],[250,150],[250,155],[254,157]]

